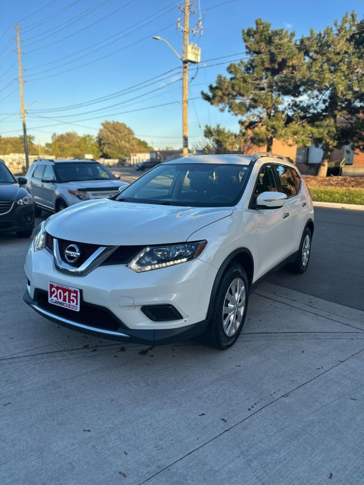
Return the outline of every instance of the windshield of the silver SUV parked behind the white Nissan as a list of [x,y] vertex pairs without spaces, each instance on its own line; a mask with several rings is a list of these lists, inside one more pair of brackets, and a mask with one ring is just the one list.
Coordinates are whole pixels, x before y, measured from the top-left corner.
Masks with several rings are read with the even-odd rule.
[[65,162],[56,163],[57,181],[116,180],[114,175],[100,163]]

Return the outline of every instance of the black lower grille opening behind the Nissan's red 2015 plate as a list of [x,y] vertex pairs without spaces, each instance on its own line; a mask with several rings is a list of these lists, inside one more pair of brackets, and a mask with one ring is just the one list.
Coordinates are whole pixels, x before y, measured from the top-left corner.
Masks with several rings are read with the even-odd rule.
[[34,298],[37,301],[38,307],[58,317],[66,318],[89,327],[103,328],[106,330],[117,330],[120,327],[118,319],[105,308],[81,301],[79,312],[75,312],[67,308],[52,305],[48,302],[48,294],[41,290],[37,290]]

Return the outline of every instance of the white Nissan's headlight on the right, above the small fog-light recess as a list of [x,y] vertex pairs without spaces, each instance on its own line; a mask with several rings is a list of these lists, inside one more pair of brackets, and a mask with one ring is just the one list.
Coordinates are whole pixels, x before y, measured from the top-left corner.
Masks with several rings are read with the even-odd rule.
[[197,258],[207,241],[144,248],[126,266],[136,273],[165,268]]

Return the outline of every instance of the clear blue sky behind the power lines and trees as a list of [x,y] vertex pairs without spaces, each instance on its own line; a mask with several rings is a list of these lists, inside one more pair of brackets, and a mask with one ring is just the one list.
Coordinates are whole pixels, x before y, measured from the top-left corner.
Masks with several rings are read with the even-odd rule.
[[[17,114],[20,100],[15,81],[18,75],[13,53],[15,31],[10,27],[18,22],[24,29],[21,37],[25,105],[41,101],[28,108],[28,133],[36,140],[44,143],[52,132],[73,130],[96,135],[100,123],[109,119],[126,123],[137,136],[155,147],[180,147],[181,81],[178,69],[173,70],[178,68],[179,61],[163,42],[152,39],[153,35],[160,35],[181,51],[182,34],[175,24],[182,15],[176,4],[170,0],[2,2],[0,135],[17,135],[22,129]],[[196,4],[199,11],[198,0]],[[241,30],[254,25],[258,17],[275,28],[292,29],[299,37],[308,34],[310,27],[320,30],[331,25],[346,11],[355,10],[360,18],[364,11],[359,0],[346,3],[339,0],[200,0],[200,7],[203,35],[191,37],[191,41],[201,47],[202,61],[242,53]],[[198,14],[192,16],[191,24],[197,19]],[[239,55],[207,61],[207,67],[202,62],[197,72],[191,65],[190,78],[194,78],[190,84],[191,98],[199,98],[200,91],[228,66],[226,62],[209,67],[210,64],[238,58]],[[144,87],[136,86],[148,79],[152,80]],[[122,90],[99,103],[40,112],[87,103]],[[189,120],[190,146],[201,140],[207,123],[220,123],[234,130],[238,126],[237,118],[219,112],[201,99],[190,102]]]

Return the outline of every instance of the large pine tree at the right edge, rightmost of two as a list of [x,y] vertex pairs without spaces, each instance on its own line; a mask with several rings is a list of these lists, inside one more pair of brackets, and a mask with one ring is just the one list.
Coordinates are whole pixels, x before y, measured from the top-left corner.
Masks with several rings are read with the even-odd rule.
[[306,63],[299,82],[303,95],[292,107],[305,120],[310,138],[324,153],[319,174],[326,175],[335,148],[352,143],[364,150],[364,21],[345,14],[323,32],[303,38]]

